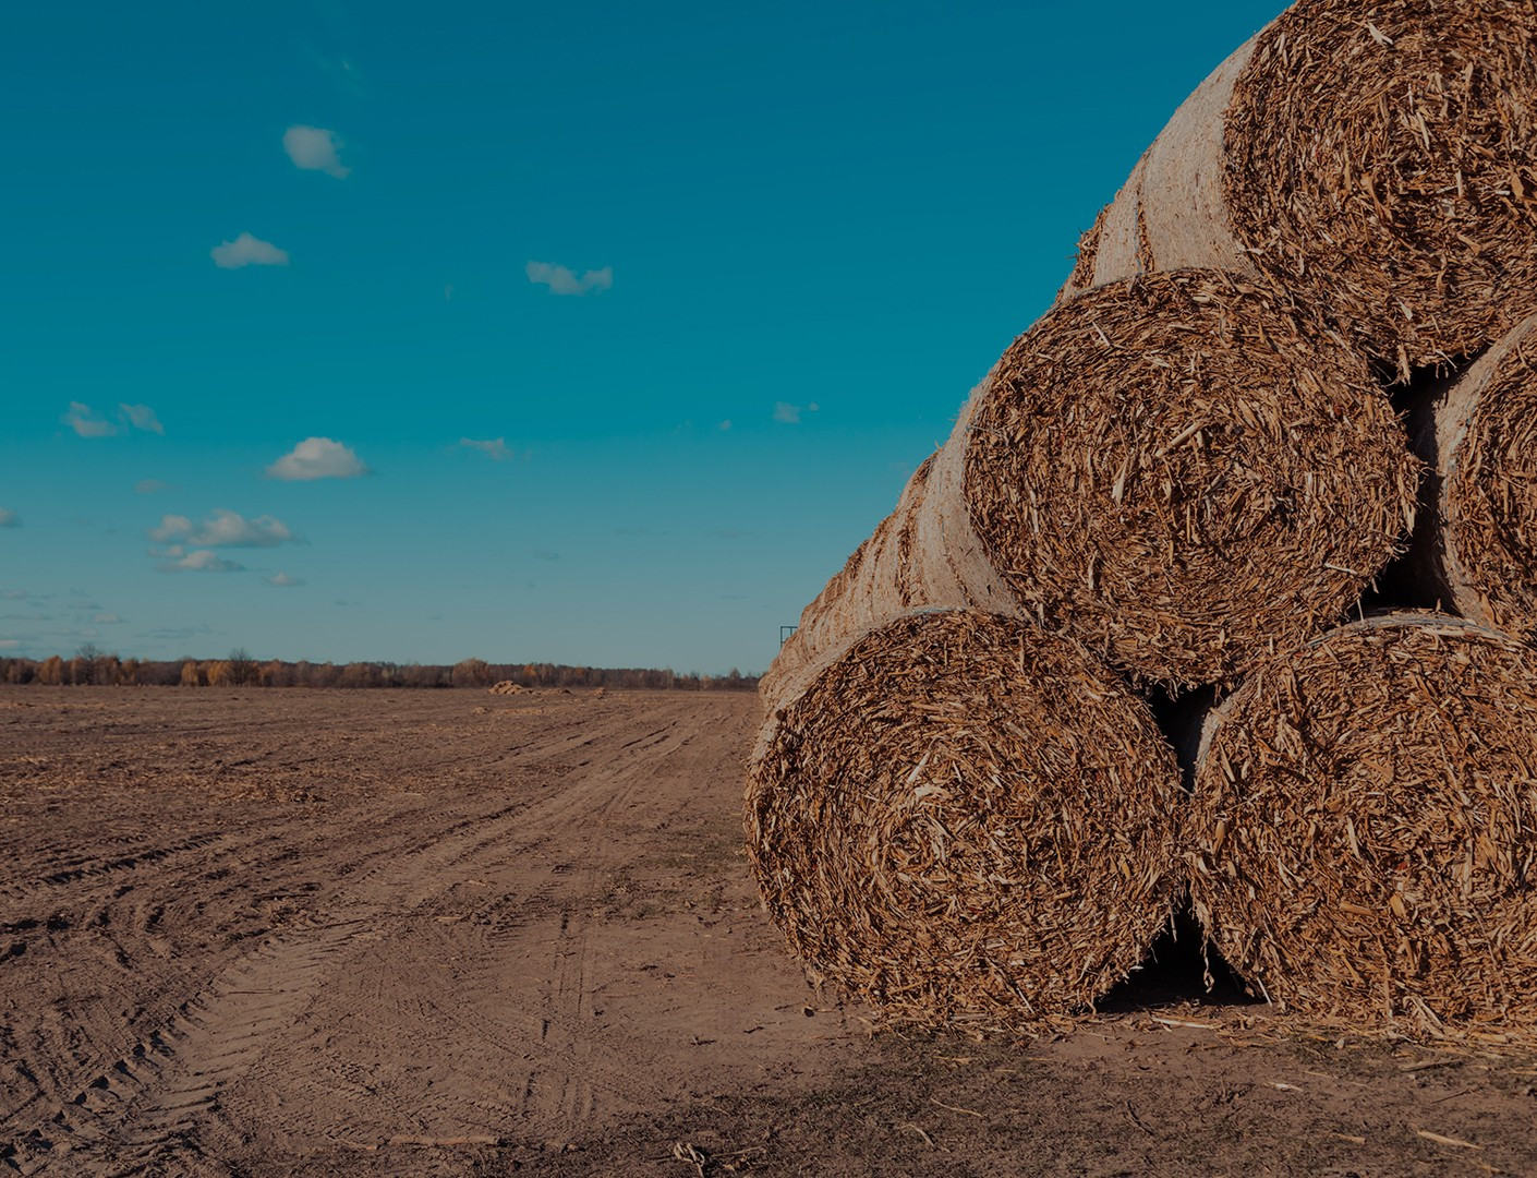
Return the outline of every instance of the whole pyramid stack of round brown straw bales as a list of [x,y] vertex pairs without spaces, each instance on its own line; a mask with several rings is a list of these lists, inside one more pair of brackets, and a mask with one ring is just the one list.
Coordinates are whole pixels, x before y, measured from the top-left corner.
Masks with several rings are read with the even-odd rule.
[[[813,970],[1016,1026],[1188,897],[1286,1009],[1537,1030],[1534,152],[1525,0],[1300,0],[1176,112],[761,681]],[[1411,448],[1388,386],[1489,344]],[[1342,626],[1411,532],[1468,621]],[[1145,694],[1193,687],[1187,798]]]

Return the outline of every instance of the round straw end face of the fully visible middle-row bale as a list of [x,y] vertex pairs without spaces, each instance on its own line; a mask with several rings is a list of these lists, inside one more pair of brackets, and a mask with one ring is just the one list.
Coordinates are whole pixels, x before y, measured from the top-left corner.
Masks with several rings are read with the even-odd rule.
[[1019,609],[1140,681],[1233,680],[1328,629],[1414,521],[1420,463],[1365,361],[1219,272],[1053,308],[961,434]]

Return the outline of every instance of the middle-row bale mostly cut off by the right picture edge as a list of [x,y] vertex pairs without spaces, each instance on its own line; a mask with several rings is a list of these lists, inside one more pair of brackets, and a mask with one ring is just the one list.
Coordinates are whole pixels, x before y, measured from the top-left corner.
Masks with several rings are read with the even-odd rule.
[[1537,635],[1537,315],[1445,388],[1417,434],[1428,587],[1469,621]]

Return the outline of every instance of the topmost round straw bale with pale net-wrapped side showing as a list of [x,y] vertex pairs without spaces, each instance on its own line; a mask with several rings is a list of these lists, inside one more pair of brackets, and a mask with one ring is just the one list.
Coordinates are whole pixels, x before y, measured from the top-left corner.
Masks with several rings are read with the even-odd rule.
[[1065,288],[1247,268],[1399,371],[1537,308],[1529,0],[1299,0],[1176,111]]

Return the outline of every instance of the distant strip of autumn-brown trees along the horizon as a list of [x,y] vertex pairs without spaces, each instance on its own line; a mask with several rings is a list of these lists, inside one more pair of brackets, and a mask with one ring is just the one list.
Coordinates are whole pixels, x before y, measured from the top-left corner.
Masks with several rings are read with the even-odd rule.
[[644,667],[569,667],[559,663],[487,663],[466,658],[453,666],[424,663],[284,663],[261,661],[244,651],[227,658],[120,658],[91,647],[72,658],[0,658],[0,683],[118,687],[489,687],[512,680],[520,687],[676,687],[682,690],[752,690],[756,675],[678,675]]

